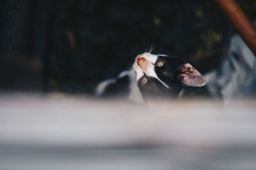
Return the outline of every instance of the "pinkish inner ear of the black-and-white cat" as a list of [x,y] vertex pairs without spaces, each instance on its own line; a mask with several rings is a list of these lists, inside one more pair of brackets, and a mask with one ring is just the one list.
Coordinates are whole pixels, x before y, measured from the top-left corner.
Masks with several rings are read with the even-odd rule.
[[201,87],[205,85],[205,79],[191,64],[182,64],[179,74],[180,81],[186,86]]

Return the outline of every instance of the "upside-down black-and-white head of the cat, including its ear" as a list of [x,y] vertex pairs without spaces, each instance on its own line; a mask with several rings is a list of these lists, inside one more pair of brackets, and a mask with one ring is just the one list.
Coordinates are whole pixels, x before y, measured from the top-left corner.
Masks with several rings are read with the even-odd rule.
[[184,86],[205,85],[204,76],[193,66],[167,55],[142,53],[133,69],[143,98],[178,96]]

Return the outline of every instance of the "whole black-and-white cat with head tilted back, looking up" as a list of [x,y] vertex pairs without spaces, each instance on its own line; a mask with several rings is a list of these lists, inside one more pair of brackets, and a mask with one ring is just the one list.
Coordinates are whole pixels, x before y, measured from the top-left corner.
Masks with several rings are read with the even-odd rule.
[[184,86],[201,87],[205,79],[191,64],[167,55],[142,53],[131,71],[100,83],[98,96],[125,96],[142,103],[152,98],[177,97]]

